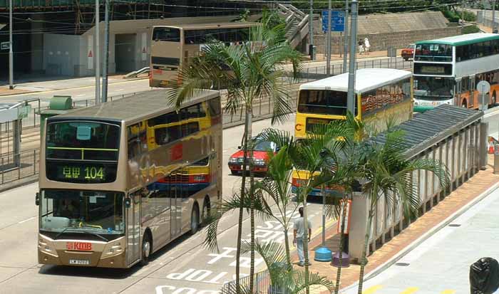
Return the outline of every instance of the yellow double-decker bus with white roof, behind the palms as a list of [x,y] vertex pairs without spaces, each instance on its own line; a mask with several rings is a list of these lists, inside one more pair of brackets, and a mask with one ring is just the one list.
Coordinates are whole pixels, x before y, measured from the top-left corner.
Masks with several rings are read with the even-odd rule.
[[[335,75],[305,83],[299,88],[294,137],[307,138],[316,125],[346,119],[346,96],[349,74]],[[368,130],[383,131],[386,122],[399,124],[413,114],[413,80],[406,70],[365,68],[356,70],[355,118],[365,122]],[[306,172],[294,171],[294,191],[308,178]],[[312,195],[319,195],[314,189]]]

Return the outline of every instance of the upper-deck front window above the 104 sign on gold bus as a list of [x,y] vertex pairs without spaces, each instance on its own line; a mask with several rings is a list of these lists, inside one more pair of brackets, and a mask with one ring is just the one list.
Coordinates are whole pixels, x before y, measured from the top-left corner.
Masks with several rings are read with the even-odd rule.
[[48,159],[118,160],[120,127],[103,122],[51,122],[46,132]]

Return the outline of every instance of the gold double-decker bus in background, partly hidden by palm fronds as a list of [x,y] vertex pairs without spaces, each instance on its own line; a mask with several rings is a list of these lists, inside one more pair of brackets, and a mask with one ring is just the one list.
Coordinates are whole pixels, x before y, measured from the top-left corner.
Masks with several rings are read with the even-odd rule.
[[260,25],[232,22],[154,26],[151,33],[150,87],[169,87],[177,83],[182,63],[198,56],[206,43],[216,40],[237,46],[249,41],[249,28]]

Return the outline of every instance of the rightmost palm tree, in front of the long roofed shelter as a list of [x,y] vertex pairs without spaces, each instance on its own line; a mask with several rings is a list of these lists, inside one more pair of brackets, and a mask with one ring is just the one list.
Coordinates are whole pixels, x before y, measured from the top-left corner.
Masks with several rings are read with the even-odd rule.
[[359,294],[362,293],[371,224],[379,199],[384,197],[390,213],[394,213],[400,204],[406,216],[417,215],[420,203],[418,186],[411,179],[413,172],[418,170],[433,172],[438,177],[441,187],[446,187],[449,182],[448,171],[440,162],[430,159],[411,160],[403,156],[406,146],[403,144],[401,131],[386,133],[386,141],[382,145],[365,142],[361,149],[365,155],[364,162],[359,166],[359,172],[365,180],[362,191],[369,199],[369,214],[366,219],[364,248],[360,260]]

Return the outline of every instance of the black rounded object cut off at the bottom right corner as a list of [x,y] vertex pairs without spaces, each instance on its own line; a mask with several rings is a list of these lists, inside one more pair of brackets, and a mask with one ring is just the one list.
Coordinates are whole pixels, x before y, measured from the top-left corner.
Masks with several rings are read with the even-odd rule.
[[499,263],[483,257],[470,266],[471,294],[492,294],[499,288]]

